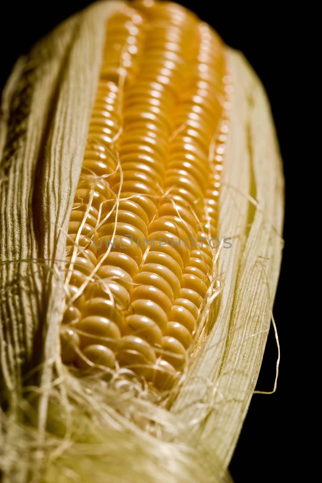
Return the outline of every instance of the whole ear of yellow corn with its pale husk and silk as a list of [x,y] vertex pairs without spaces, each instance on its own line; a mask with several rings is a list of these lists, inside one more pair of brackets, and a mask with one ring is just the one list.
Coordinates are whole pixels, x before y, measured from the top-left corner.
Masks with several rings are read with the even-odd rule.
[[101,2],[18,61],[3,113],[4,481],[229,481],[281,256],[259,81],[179,6]]

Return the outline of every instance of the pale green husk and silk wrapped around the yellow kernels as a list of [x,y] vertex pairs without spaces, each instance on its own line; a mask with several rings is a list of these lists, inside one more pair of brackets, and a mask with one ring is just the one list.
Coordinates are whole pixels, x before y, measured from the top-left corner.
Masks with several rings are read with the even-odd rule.
[[0,469],[5,483],[229,482],[261,366],[282,251],[283,175],[270,108],[228,47],[234,93],[224,159],[220,297],[175,393],[79,378],[62,365],[65,246],[105,22],[122,2],[74,15],[20,58],[0,131]]

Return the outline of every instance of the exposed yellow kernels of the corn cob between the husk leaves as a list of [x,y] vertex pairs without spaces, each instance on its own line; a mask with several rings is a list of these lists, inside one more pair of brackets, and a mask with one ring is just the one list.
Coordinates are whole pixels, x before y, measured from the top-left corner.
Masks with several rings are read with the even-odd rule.
[[231,86],[221,41],[174,4],[134,2],[105,45],[68,230],[62,357],[162,385],[212,280]]

